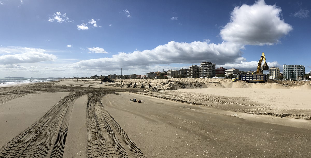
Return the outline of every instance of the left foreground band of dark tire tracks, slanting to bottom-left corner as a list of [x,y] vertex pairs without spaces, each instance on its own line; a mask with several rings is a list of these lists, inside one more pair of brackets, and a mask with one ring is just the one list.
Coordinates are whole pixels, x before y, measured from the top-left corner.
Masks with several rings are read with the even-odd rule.
[[62,157],[73,101],[73,92],[53,106],[36,123],[0,149],[1,157]]

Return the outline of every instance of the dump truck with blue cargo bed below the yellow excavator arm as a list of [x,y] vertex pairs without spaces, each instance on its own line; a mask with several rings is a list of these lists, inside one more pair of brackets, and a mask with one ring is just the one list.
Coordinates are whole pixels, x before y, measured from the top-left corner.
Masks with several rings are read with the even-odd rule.
[[232,81],[246,81],[248,83],[265,83],[268,75],[265,74],[233,74]]

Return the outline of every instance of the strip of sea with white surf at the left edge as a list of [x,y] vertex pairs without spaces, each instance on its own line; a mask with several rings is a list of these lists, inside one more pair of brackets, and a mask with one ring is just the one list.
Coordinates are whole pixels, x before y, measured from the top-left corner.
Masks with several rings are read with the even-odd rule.
[[0,78],[0,86],[15,85],[21,83],[58,81],[59,78]]

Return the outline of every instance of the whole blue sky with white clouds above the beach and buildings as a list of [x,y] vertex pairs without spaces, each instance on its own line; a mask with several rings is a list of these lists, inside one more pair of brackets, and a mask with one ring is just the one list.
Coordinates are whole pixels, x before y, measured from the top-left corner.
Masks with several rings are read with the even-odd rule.
[[217,67],[311,70],[307,0],[0,0],[1,77]]

